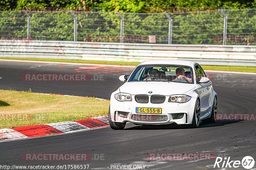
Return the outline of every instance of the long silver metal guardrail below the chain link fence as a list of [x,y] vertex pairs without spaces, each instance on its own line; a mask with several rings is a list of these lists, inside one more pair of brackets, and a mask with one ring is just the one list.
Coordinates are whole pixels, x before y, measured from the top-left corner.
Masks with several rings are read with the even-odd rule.
[[141,62],[193,60],[202,65],[256,67],[256,46],[167,45],[73,41],[0,42],[1,57]]

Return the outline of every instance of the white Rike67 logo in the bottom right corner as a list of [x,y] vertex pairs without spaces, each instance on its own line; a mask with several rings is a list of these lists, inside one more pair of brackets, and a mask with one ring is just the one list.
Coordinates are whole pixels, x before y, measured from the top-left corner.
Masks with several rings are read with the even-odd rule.
[[238,168],[241,165],[245,169],[251,169],[254,166],[254,159],[251,156],[245,156],[242,161],[240,160],[230,160],[230,157],[217,157],[214,163],[214,168]]

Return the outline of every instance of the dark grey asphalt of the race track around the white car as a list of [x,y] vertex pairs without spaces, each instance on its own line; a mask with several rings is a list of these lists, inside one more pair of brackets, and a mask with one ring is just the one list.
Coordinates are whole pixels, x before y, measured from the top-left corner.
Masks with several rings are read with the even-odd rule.
[[[83,67],[83,68],[81,68]],[[94,67],[94,68],[89,68]],[[132,68],[0,61],[0,89],[95,96],[109,99],[122,82],[118,76]],[[90,81],[24,81],[23,74],[102,75]],[[218,112],[256,113],[256,75],[209,72],[218,94]],[[1,97],[1,96],[0,96]],[[89,169],[110,169],[111,165],[145,165],[145,169],[216,169],[212,160],[148,160],[149,153],[211,153],[215,156],[256,160],[256,121],[217,121],[197,129],[175,125],[140,126],[127,124],[122,131],[110,127],[65,135],[29,138],[0,143],[0,165],[83,165]],[[102,160],[27,161],[26,153],[89,153]],[[255,168],[255,166],[254,166]],[[112,168],[113,169],[113,168]],[[243,169],[242,166],[236,169]]]

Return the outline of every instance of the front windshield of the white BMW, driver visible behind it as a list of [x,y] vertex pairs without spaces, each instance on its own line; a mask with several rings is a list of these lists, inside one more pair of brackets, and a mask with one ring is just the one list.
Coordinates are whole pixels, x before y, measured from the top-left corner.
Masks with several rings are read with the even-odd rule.
[[141,65],[131,74],[131,81],[172,81],[194,83],[192,68],[180,65]]

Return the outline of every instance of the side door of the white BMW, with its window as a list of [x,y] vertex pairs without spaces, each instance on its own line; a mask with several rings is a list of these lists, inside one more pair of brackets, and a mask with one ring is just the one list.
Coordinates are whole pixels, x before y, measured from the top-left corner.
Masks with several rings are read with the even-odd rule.
[[[196,80],[201,79],[202,77],[206,77],[204,70],[199,64],[195,65],[195,72],[196,72]],[[212,82],[209,81],[208,83],[199,83],[196,82],[197,92],[200,97],[200,104],[201,104],[201,114],[204,115],[208,112],[210,107],[210,100],[211,100],[211,87]]]

